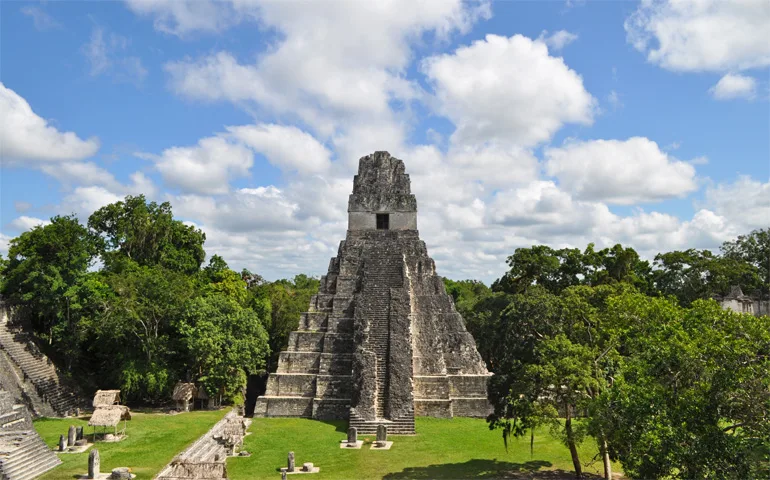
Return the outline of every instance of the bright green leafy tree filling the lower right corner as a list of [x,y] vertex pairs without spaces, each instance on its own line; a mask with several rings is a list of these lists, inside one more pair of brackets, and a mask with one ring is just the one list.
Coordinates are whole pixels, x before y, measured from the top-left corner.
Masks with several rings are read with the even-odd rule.
[[621,370],[592,428],[634,478],[765,478],[770,452],[770,318],[698,300],[608,301]]

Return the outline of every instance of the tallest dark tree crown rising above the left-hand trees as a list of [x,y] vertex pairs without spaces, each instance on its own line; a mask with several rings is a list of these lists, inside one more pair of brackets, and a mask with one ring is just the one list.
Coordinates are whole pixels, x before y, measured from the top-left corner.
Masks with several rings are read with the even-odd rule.
[[148,203],[144,195],[129,195],[100,208],[89,217],[88,226],[103,240],[100,253],[108,268],[119,269],[130,259],[194,273],[206,257],[206,234],[174,220],[170,203]]

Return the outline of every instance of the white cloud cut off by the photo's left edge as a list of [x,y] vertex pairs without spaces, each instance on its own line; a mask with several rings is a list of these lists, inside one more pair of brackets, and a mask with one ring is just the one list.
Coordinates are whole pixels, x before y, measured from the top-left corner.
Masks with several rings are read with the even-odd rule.
[[96,138],[60,132],[39,117],[24,98],[0,83],[0,159],[2,163],[80,160],[99,149]]

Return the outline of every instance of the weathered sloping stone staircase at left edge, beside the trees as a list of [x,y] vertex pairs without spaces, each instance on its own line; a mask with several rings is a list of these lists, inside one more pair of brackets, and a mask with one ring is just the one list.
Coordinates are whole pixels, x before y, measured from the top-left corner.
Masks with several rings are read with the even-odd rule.
[[[37,349],[29,334],[8,322],[6,308],[0,305],[0,310],[0,349],[10,360],[8,363],[13,364],[13,373],[29,397],[27,403],[32,413],[35,416],[70,415],[79,406],[77,395],[63,385],[56,367]],[[29,388],[30,384],[34,388]]]

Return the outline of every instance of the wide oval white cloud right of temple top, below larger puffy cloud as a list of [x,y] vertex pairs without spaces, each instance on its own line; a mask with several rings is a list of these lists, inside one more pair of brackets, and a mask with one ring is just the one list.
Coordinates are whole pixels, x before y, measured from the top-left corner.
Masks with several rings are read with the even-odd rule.
[[544,152],[546,171],[577,198],[633,205],[682,197],[697,188],[695,168],[644,137],[573,142]]

